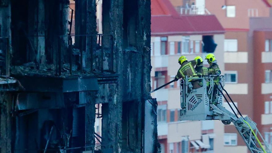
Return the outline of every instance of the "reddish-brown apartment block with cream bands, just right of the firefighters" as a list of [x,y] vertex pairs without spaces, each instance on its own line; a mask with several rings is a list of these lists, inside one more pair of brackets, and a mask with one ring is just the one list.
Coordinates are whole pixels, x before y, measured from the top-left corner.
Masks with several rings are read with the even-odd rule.
[[[250,34],[250,26],[252,25],[249,21],[250,19],[258,19],[260,17],[270,19],[268,17],[271,6],[265,0],[206,0],[205,7],[210,13],[217,16],[226,30],[224,62],[227,83],[225,89],[229,91],[230,96],[236,102],[242,114],[251,117],[253,121],[257,122],[259,130],[265,137],[266,132],[270,130],[266,129],[266,132],[264,131],[260,122],[262,118],[258,111],[259,109],[264,109],[264,103],[266,102],[264,100],[268,100],[266,96],[269,92],[266,92],[266,94],[259,94],[259,92],[266,90],[269,85],[263,81],[265,72],[262,72],[259,66],[264,68],[271,65],[271,63],[260,63],[261,60],[258,57],[265,49],[260,50],[259,48],[258,52],[255,52],[255,47],[258,48],[259,44],[265,46],[265,40],[262,42],[261,40],[256,41],[257,39],[253,39],[257,36]],[[255,30],[258,27],[262,27],[262,21],[260,22],[259,20],[259,23],[254,23]],[[258,32],[253,33],[258,35]],[[267,39],[269,41],[269,37]],[[266,45],[269,45],[267,41]],[[263,113],[264,111],[261,114]],[[265,119],[266,121],[271,120],[269,118]],[[237,135],[236,128],[233,125],[225,126],[225,139],[228,135]],[[225,142],[225,147],[230,151],[247,152],[247,147],[240,137],[237,138],[237,144]]]

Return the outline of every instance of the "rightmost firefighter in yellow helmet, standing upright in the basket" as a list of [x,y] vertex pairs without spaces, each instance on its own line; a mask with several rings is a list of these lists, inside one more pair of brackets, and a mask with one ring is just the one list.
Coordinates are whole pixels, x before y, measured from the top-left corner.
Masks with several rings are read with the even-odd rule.
[[[214,83],[216,83],[218,85],[219,75],[221,74],[221,71],[220,71],[217,61],[215,59],[215,55],[212,53],[209,53],[206,55],[205,59],[210,64],[210,66],[208,67],[208,73],[209,73],[209,75],[216,75],[216,77],[214,77]],[[217,95],[216,94],[217,94],[217,88],[214,87],[212,104],[217,104],[217,100],[216,100]]]

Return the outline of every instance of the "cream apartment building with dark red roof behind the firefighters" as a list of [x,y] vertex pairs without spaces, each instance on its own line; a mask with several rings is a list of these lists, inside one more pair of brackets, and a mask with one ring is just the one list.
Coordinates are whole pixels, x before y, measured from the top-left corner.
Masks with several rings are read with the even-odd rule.
[[[152,89],[174,79],[181,55],[193,60],[212,52],[224,72],[223,46],[224,29],[215,15],[179,15],[168,0],[151,1]],[[177,81],[151,94],[158,101],[158,139],[162,152],[222,150],[224,128],[220,121],[180,121],[179,92]]]

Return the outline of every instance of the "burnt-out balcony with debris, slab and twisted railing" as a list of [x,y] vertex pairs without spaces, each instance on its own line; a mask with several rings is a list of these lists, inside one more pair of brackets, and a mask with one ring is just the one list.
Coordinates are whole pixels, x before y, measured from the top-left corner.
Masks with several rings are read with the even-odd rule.
[[[27,43],[23,44],[25,49],[15,47],[10,73],[21,82],[25,91],[97,91],[98,84],[117,83],[112,35],[68,34],[53,36],[52,42],[45,41],[49,39],[47,36],[25,34],[16,37]],[[33,45],[35,43],[38,47]],[[6,53],[6,50],[8,47],[2,52]]]

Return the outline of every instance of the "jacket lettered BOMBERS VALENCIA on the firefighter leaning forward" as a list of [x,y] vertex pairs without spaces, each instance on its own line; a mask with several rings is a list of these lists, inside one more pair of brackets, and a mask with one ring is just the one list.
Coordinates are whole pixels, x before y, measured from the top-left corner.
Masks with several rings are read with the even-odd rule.
[[[194,66],[197,64],[197,60],[193,61],[186,61],[181,64],[181,67],[177,71],[176,74],[176,79],[185,79],[185,75],[187,75],[189,78],[198,78],[198,76],[193,76],[192,75],[197,75],[196,70],[194,69]],[[192,81],[196,79],[188,79],[188,81]]]

